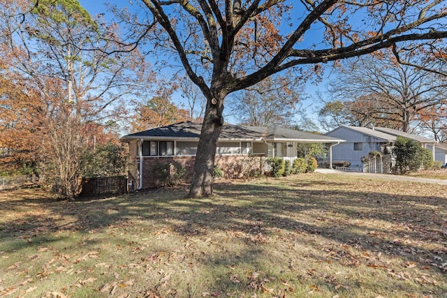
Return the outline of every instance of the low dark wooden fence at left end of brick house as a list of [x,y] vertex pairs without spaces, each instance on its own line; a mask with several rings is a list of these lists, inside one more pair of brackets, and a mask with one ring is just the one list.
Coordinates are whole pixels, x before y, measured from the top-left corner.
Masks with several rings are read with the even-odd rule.
[[80,196],[122,195],[127,192],[126,176],[83,178]]

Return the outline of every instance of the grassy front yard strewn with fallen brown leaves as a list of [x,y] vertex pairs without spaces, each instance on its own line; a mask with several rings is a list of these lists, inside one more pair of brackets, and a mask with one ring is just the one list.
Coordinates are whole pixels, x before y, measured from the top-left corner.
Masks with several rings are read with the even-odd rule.
[[0,193],[0,297],[447,297],[447,189],[329,174]]

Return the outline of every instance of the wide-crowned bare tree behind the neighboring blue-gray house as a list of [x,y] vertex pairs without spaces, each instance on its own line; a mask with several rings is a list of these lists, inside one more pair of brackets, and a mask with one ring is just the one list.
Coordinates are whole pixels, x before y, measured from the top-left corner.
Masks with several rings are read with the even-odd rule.
[[321,109],[322,123],[332,122],[332,128],[339,123],[386,126],[406,133],[418,128],[423,124],[418,120],[428,120],[430,111],[445,107],[447,81],[444,75],[424,69],[441,69],[440,61],[406,53],[406,61],[416,59],[419,66],[400,64],[393,52],[383,50],[347,61],[330,84],[328,93],[334,101]]

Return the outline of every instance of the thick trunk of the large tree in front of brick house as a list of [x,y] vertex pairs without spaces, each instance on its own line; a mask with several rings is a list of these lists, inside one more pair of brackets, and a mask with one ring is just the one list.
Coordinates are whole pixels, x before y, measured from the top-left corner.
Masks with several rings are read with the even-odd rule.
[[194,164],[193,180],[189,189],[189,198],[207,197],[212,195],[212,172],[216,156],[217,140],[223,126],[223,99],[208,100],[203,120],[202,132],[198,142],[196,163]]

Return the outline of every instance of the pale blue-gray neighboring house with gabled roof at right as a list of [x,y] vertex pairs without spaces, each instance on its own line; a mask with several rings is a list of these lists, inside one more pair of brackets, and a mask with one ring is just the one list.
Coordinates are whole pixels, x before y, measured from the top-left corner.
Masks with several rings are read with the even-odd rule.
[[[390,158],[393,144],[398,136],[415,140],[423,148],[430,149],[435,161],[440,161],[443,165],[447,161],[447,148],[439,145],[437,141],[390,128],[339,126],[326,135],[346,140],[332,149],[332,162],[348,161],[351,167],[362,167],[362,157],[372,151],[380,152],[382,156]],[[390,161],[387,162],[390,163]]]

